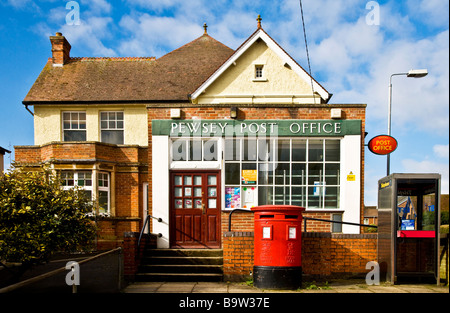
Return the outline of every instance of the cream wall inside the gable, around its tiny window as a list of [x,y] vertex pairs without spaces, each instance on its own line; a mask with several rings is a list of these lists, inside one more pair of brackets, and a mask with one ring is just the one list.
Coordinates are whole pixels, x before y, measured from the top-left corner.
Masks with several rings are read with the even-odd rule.
[[[264,65],[265,80],[254,80],[255,65]],[[305,101],[313,102],[311,82],[285,66],[285,62],[263,41],[250,47],[198,98],[199,103]]]

